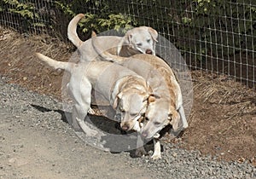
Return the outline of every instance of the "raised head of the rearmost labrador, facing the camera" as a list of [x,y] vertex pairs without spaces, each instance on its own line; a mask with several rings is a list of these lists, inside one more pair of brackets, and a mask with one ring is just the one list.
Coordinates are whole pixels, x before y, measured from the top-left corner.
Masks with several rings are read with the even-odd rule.
[[[126,46],[130,55],[149,54],[155,55],[155,43],[158,32],[148,26],[140,26],[125,33],[121,45]],[[120,49],[118,49],[120,51]]]

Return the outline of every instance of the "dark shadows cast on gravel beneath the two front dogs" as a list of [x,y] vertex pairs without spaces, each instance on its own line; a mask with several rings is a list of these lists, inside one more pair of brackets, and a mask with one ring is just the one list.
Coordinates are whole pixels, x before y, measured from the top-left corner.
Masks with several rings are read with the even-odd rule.
[[[41,107],[38,105],[31,104],[32,107],[36,108],[41,113],[47,113],[47,112],[56,112],[61,114],[61,120],[67,124],[68,118],[71,118],[72,113],[67,113],[62,110],[52,110],[47,107]],[[136,148],[137,148],[137,132],[134,131],[124,131],[121,130],[119,127],[119,123],[107,118],[105,116],[99,116],[99,115],[87,115],[90,120],[86,120],[89,124],[92,124],[93,128],[96,128],[97,130],[101,130],[105,136],[102,136],[101,141],[105,141],[104,147],[109,148],[110,152],[113,154],[117,153],[129,153],[131,158],[137,158],[136,155]],[[84,141],[88,142],[89,139],[86,138],[84,135],[80,135],[79,138]],[[90,142],[90,141],[89,141]],[[148,141],[144,145],[146,153],[148,153],[150,150],[154,148],[153,142]]]

